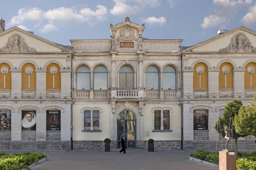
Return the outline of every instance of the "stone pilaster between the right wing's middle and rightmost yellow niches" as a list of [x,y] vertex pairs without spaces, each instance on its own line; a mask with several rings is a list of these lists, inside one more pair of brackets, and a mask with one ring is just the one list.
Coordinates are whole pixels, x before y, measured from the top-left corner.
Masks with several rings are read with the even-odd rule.
[[[244,73],[246,69],[234,69],[234,98],[245,98]],[[239,97],[240,96],[240,97]]]

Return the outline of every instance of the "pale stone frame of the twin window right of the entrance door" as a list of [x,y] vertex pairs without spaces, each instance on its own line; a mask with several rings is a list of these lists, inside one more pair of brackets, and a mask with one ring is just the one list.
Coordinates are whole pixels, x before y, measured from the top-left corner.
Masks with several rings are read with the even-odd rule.
[[[155,130],[155,110],[161,111],[161,129]],[[169,110],[169,130],[164,130],[164,110]],[[172,113],[173,110],[169,107],[154,107],[151,109],[152,112],[152,132],[172,132]]]

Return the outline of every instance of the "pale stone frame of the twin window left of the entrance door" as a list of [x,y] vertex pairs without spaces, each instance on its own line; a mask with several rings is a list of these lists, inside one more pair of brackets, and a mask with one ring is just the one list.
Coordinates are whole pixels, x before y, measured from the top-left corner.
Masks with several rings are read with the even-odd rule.
[[[93,130],[93,111],[99,111],[100,112],[100,129],[99,130]],[[84,130],[84,111],[90,111],[91,112],[91,127],[90,130]],[[82,115],[82,132],[101,132],[101,115],[102,115],[102,109],[100,107],[85,107],[81,110]]]

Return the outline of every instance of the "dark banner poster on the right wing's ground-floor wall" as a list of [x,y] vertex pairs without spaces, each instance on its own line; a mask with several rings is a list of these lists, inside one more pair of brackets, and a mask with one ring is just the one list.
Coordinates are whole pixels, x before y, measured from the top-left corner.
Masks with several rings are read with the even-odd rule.
[[194,130],[208,129],[208,110],[194,110]]

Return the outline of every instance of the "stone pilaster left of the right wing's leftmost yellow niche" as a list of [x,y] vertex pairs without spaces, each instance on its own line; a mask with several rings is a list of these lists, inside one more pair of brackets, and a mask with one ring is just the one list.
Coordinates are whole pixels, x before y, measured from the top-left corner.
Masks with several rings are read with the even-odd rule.
[[184,98],[194,98],[193,72],[194,72],[194,69],[183,70],[183,96],[184,96]]

